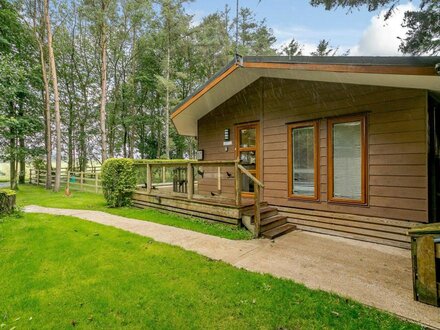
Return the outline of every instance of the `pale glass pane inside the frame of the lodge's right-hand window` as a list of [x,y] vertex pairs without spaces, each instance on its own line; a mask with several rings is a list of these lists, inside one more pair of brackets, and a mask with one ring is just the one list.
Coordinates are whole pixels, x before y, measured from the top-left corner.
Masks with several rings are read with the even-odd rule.
[[333,197],[361,199],[361,122],[333,125]]

